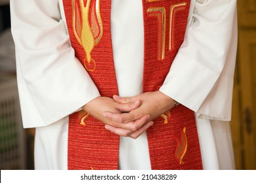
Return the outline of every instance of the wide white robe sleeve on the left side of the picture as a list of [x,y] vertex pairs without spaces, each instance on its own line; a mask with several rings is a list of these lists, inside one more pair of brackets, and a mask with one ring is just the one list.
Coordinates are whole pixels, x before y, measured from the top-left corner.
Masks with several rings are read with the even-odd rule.
[[100,93],[75,58],[58,0],[11,0],[24,127],[52,124]]

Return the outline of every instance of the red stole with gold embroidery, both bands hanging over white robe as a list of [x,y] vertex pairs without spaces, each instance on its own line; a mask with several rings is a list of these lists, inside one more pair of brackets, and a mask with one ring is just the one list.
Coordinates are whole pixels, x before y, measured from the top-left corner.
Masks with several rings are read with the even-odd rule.
[[[142,0],[143,92],[159,90],[183,42],[189,0]],[[111,45],[111,0],[64,0],[71,44],[101,96],[118,94]],[[132,10],[131,10],[132,13]],[[86,93],[84,93],[86,95]],[[202,169],[194,112],[183,105],[147,130],[152,169]],[[69,116],[69,169],[118,169],[119,136],[84,111]]]

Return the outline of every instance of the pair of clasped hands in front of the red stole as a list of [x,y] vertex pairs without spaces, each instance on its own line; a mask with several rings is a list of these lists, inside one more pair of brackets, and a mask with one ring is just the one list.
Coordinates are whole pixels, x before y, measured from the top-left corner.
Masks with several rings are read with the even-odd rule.
[[147,92],[134,97],[97,97],[83,110],[105,124],[105,129],[137,139],[154,124],[153,120],[170,110],[174,100],[162,92]]

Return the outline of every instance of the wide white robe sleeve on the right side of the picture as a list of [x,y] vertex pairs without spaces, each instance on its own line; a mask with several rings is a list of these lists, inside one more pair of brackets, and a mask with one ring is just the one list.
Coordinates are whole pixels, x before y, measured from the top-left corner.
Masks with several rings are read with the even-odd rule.
[[160,88],[200,118],[230,120],[236,0],[196,0],[185,41]]

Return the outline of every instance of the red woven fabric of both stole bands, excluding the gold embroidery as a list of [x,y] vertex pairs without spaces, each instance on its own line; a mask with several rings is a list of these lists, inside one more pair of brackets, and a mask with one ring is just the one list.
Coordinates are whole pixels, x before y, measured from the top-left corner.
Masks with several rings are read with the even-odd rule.
[[[168,74],[172,61],[183,42],[190,1],[154,1],[143,0],[143,16],[145,29],[145,61],[143,73],[143,92],[157,91]],[[170,7],[175,4],[187,3],[177,8],[175,21],[170,22]],[[96,61],[96,69],[88,72],[98,87],[101,96],[111,97],[118,94],[117,80],[113,63],[113,50],[111,46],[110,10],[111,1],[100,1],[101,18],[103,24],[103,37],[92,50],[91,56]],[[149,17],[147,10],[151,7],[164,7],[166,10],[166,41],[169,41],[170,27],[172,27],[171,50],[168,44],[164,47],[164,59],[159,60],[159,12]],[[71,44],[75,49],[77,58],[84,63],[86,54],[77,41],[72,27],[71,0],[64,0],[65,16]],[[161,12],[160,12],[161,13]],[[158,16],[159,18],[160,16]],[[119,137],[105,130],[102,122],[89,116],[85,126],[79,124],[79,112],[69,116],[68,139],[68,169],[118,169]],[[186,148],[184,148],[183,164],[177,159],[177,144],[181,141],[182,129],[186,128]],[[202,169],[200,146],[194,119],[194,112],[178,105],[170,110],[168,123],[159,117],[153,127],[147,130],[149,154],[152,169]],[[183,144],[184,145],[184,144]]]

